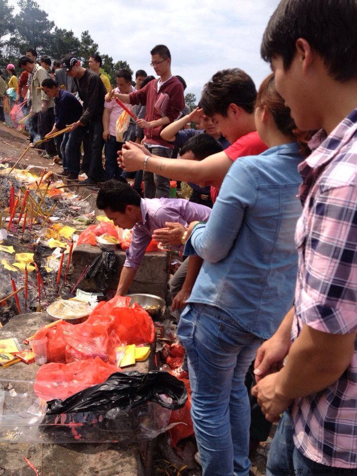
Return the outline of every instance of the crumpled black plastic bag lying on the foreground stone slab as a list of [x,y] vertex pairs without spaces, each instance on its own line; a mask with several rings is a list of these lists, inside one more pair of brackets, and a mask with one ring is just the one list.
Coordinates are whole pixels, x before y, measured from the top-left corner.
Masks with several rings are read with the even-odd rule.
[[[165,402],[160,397],[163,394],[169,396],[172,403]],[[103,384],[86,388],[65,400],[50,400],[47,402],[46,415],[133,409],[146,402],[178,410],[185,405],[187,397],[185,384],[167,372],[116,372]]]

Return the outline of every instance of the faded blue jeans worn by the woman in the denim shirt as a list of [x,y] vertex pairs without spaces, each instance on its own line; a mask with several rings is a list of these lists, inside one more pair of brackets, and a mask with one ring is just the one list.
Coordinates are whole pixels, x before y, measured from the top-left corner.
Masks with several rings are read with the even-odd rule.
[[177,335],[188,357],[203,475],[246,476],[250,407],[244,381],[262,339],[219,308],[201,304],[186,306]]

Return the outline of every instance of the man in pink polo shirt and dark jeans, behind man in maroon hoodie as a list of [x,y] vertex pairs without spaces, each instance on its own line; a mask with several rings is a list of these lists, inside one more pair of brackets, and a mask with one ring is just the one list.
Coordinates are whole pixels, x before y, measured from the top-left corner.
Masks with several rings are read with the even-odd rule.
[[[126,69],[120,69],[116,73],[116,85],[115,92],[130,94],[135,91],[132,86],[132,75]],[[121,176],[122,170],[117,163],[117,153],[120,151],[123,142],[116,140],[116,122],[119,116],[123,112],[123,108],[117,104],[115,98],[112,97],[109,101],[104,103],[103,111],[103,138],[105,140],[104,153],[106,156],[106,180],[118,179]],[[125,133],[125,136],[130,132],[131,128],[135,130],[135,122],[133,118],[130,118],[129,127]]]

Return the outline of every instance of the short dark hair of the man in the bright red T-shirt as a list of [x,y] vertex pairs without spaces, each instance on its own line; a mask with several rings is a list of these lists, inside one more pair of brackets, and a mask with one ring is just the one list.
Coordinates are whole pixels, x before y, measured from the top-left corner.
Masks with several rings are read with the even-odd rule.
[[256,97],[257,89],[249,74],[239,68],[223,69],[205,84],[199,104],[209,117],[214,114],[225,117],[232,103],[252,114]]

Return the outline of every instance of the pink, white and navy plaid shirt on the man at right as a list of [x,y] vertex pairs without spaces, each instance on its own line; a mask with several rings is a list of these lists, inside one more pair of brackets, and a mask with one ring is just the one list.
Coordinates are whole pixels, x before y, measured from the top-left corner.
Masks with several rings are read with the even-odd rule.
[[[357,109],[299,165],[304,208],[292,340],[302,324],[331,334],[357,331]],[[321,142],[322,141],[322,142]],[[357,467],[357,340],[349,367],[325,390],[297,398],[294,442],[327,466]]]

